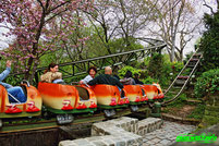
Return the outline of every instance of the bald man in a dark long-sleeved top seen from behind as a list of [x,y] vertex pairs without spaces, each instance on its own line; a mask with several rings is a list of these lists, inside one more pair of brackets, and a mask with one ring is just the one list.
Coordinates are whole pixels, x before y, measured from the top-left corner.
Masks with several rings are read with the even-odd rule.
[[113,76],[112,74],[112,69],[110,66],[105,68],[105,74],[100,74],[94,80],[89,81],[87,84],[88,85],[96,85],[96,84],[107,84],[107,85],[113,85],[118,86],[120,89],[123,88],[123,85],[120,83],[120,81]]

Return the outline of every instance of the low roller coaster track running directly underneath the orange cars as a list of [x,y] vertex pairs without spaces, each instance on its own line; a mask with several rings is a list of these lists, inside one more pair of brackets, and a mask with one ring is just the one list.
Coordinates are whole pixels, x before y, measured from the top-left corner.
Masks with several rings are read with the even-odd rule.
[[[148,110],[149,110],[148,105],[142,105],[137,112],[138,113],[146,112]],[[137,112],[135,112],[135,114],[137,114]],[[132,111],[129,108],[118,109],[117,114],[113,115],[112,118],[129,115],[131,113]],[[74,119],[75,120],[72,123],[66,125],[78,126],[80,124],[99,122],[99,121],[108,120],[109,118],[106,118],[104,112],[97,112],[94,114],[83,114],[83,115],[77,114],[77,115],[74,115]],[[63,125],[57,124],[56,118],[51,118],[49,120],[39,119],[39,118],[38,119],[37,118],[12,119],[11,121],[9,120],[10,119],[7,119],[3,121],[3,126],[0,130],[0,137],[1,135],[7,133],[13,134],[13,133],[25,132],[25,131],[48,130],[48,129],[56,129],[59,126],[63,126]]]

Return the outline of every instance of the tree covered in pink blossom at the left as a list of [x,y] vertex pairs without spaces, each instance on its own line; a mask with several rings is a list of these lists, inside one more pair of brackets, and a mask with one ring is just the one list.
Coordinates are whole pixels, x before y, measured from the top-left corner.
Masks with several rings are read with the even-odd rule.
[[[1,52],[5,57],[16,58],[24,66],[25,78],[31,82],[38,65],[39,58],[46,51],[53,51],[51,40],[61,39],[65,34],[52,34],[51,24],[59,23],[58,16],[71,20],[69,14],[77,9],[88,11],[89,0],[3,0],[0,1],[0,23],[14,36],[12,52]],[[69,23],[69,21],[65,21]],[[69,24],[71,26],[71,24]],[[24,64],[24,65],[22,65]]]

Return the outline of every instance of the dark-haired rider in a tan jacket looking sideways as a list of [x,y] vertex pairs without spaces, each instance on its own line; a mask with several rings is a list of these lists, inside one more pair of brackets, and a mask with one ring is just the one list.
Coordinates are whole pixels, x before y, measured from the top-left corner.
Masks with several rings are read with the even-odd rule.
[[47,83],[59,83],[63,82],[62,80],[62,73],[58,72],[59,65],[56,63],[50,63],[48,69],[45,71],[45,73],[40,76],[41,82]]

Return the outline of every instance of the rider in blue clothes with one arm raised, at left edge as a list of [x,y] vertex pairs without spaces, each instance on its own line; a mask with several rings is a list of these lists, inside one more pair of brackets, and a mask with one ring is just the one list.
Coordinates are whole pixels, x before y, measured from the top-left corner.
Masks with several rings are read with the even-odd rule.
[[7,61],[7,69],[0,74],[0,84],[4,86],[9,94],[9,102],[25,102],[26,96],[20,86],[13,87],[10,84],[3,83],[3,81],[11,72],[11,61]]

